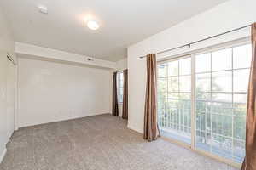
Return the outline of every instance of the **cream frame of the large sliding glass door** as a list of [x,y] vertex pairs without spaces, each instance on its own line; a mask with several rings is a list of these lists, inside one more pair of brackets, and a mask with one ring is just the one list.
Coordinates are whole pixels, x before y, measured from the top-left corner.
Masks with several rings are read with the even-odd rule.
[[[195,57],[197,55],[200,54],[207,54],[207,53],[212,53],[212,52],[216,52],[219,50],[223,50],[226,48],[236,48],[236,47],[240,47],[243,45],[247,45],[247,44],[251,44],[252,42],[250,41],[249,38],[243,38],[240,40],[236,40],[236,41],[231,41],[231,42],[224,42],[221,44],[217,44],[208,48],[201,48],[195,51],[191,51],[189,53],[183,53],[183,54],[175,54],[173,56],[169,56],[167,57],[167,59],[163,59],[163,60],[158,60],[157,61],[157,65],[163,64],[163,63],[168,63],[170,61],[175,61],[178,59],[185,59],[190,57],[191,58],[191,144],[186,144],[182,141],[176,140],[176,139],[169,139],[164,137],[165,139],[171,140],[172,142],[179,144],[181,146],[184,146],[186,148],[189,148],[190,150],[193,150],[197,153],[202,154],[203,156],[208,156],[208,157],[212,157],[213,159],[216,159],[218,161],[222,161],[224,163],[227,163],[233,167],[241,167],[241,163],[238,163],[236,161],[234,161],[233,159],[229,159],[229,158],[224,158],[222,156],[218,156],[215,155],[211,152],[208,152],[206,150],[201,150],[199,148],[196,148],[195,146],[195,139],[196,139],[196,111],[195,111],[195,103],[196,103],[196,99],[195,99]],[[232,59],[233,59],[233,54],[232,54]],[[250,68],[250,67],[249,67]],[[245,68],[244,68],[245,69]],[[236,69],[233,68],[233,61],[232,61],[232,68],[230,69],[230,71],[234,71]],[[233,77],[233,75],[232,75]],[[157,77],[157,80],[159,79],[159,77]],[[234,81],[232,81],[232,87],[233,87]],[[236,94],[233,90],[232,90],[232,95]],[[233,103],[233,99],[232,99],[232,103]],[[234,130],[233,127],[233,123],[232,123],[232,131]],[[232,146],[233,147],[233,146]]]

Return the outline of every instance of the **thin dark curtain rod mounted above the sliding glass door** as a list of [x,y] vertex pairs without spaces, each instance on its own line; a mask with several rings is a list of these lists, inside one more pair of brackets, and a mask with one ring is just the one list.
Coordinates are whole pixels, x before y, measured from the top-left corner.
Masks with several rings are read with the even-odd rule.
[[[178,49],[178,48],[185,48],[185,47],[190,48],[191,45],[193,45],[193,44],[195,44],[195,43],[203,42],[203,41],[206,41],[206,40],[208,40],[208,39],[212,39],[213,37],[223,36],[224,34],[228,34],[228,33],[233,32],[233,31],[238,31],[238,30],[241,30],[241,29],[243,29],[243,28],[247,28],[247,27],[249,27],[249,26],[252,26],[252,25],[241,26],[241,27],[236,28],[236,29],[231,30],[231,31],[225,31],[225,32],[223,32],[223,33],[220,33],[220,34],[215,35],[215,36],[212,36],[212,37],[207,37],[207,38],[203,38],[203,39],[201,39],[201,40],[195,41],[195,42],[190,42],[190,43],[187,43],[187,44],[185,44],[185,45],[179,46],[179,47],[177,47],[177,48],[166,49],[166,50],[164,50],[164,51],[160,51],[160,52],[157,52],[157,53],[155,53],[155,54],[163,54],[163,53],[166,53],[166,52],[169,52],[169,51],[173,51],[173,50]],[[141,56],[141,57],[139,57],[139,58],[140,58],[140,59],[143,59],[143,58],[146,58],[146,57],[147,57],[147,55],[144,55],[144,56]]]

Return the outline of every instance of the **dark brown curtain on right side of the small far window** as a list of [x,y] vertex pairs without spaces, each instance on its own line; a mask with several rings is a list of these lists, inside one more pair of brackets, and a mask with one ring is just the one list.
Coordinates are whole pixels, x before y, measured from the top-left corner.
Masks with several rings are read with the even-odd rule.
[[124,72],[123,119],[128,119],[128,70]]

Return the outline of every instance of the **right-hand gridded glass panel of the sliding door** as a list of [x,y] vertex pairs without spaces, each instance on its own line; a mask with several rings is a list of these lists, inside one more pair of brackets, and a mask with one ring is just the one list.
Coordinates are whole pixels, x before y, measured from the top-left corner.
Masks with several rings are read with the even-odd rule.
[[251,45],[195,56],[195,147],[243,161]]

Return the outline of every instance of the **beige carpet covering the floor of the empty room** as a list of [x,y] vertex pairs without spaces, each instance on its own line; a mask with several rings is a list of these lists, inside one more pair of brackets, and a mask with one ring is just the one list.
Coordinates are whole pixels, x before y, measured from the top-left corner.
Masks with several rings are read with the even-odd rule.
[[152,143],[110,115],[20,128],[1,170],[233,170],[163,139]]

